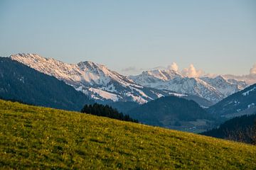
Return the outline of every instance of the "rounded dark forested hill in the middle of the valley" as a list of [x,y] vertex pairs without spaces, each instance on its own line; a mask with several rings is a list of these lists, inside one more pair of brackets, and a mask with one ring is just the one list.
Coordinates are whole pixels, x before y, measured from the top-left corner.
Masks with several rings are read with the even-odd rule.
[[214,125],[214,118],[195,101],[166,96],[149,101],[128,114],[146,125],[188,132],[202,132]]

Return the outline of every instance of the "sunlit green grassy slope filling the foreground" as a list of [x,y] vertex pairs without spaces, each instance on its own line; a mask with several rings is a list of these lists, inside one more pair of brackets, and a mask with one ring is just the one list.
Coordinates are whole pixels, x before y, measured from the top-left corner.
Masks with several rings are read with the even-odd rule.
[[0,101],[0,169],[256,169],[256,147]]

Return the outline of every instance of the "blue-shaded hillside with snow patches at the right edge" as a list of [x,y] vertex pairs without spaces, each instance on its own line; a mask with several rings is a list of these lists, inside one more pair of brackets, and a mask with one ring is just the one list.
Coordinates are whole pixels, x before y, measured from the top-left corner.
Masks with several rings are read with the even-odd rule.
[[256,112],[256,84],[228,96],[207,109],[208,113],[223,118],[249,115]]

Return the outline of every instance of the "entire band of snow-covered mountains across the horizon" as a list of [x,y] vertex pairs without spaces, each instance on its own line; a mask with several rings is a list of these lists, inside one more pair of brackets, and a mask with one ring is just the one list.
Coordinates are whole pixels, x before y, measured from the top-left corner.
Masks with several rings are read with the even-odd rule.
[[208,107],[247,86],[244,81],[221,76],[183,77],[171,69],[155,69],[125,77],[90,61],[67,64],[36,54],[17,54],[10,58],[56,77],[102,103],[132,101],[142,104],[161,96],[181,96]]

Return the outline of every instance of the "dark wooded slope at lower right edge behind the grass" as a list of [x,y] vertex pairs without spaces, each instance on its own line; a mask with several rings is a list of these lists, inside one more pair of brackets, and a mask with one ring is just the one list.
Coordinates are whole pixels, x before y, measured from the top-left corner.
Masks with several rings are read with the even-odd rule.
[[219,128],[203,132],[202,135],[256,145],[256,113],[230,119]]

